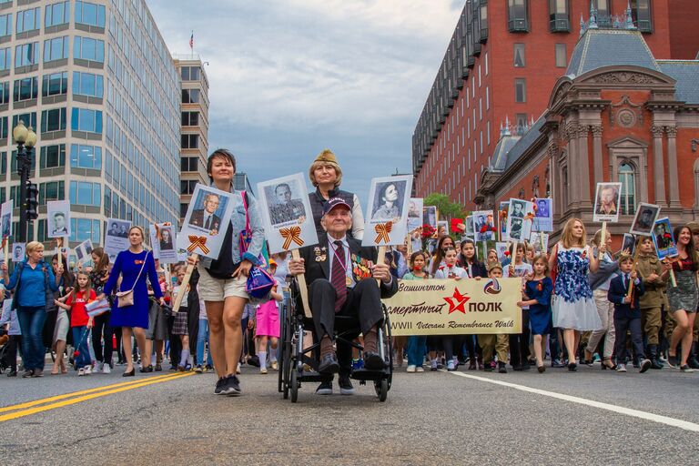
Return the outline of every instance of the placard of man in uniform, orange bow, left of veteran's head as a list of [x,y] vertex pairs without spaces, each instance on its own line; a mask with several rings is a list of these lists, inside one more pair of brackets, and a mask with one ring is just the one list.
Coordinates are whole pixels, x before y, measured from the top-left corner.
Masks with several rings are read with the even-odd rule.
[[300,173],[258,183],[259,213],[271,254],[318,243],[308,192]]

